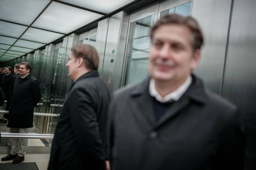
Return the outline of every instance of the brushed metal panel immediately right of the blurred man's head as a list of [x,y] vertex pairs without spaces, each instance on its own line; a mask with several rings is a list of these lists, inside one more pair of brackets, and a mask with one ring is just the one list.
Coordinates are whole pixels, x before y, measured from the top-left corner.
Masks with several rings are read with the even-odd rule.
[[192,4],[192,16],[201,26],[205,40],[194,72],[216,93],[220,93],[230,10],[231,0],[194,0]]

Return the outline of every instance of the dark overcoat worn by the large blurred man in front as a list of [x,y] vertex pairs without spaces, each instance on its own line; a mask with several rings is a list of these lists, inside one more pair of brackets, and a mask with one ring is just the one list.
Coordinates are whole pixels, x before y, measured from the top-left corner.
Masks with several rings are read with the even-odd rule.
[[237,107],[192,76],[156,122],[149,78],[117,92],[109,107],[111,170],[243,169],[245,135]]

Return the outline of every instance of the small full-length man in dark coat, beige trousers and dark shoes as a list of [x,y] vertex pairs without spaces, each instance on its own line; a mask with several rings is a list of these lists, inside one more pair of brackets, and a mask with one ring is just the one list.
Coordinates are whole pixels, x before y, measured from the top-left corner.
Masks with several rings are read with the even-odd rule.
[[[9,108],[7,127],[11,133],[28,133],[33,126],[34,107],[41,98],[39,82],[31,74],[28,62],[20,63],[20,75],[15,79]],[[12,160],[13,164],[24,161],[28,139],[12,139],[12,150],[2,161]]]

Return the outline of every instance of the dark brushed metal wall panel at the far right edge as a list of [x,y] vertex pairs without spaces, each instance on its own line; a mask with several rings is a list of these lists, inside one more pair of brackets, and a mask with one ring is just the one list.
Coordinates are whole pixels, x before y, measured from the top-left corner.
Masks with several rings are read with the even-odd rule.
[[234,102],[245,118],[245,169],[256,169],[256,1],[235,0],[221,95]]

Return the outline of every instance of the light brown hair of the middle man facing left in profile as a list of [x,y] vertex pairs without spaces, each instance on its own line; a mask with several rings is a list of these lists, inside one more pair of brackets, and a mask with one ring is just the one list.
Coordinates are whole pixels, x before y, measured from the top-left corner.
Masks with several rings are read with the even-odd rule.
[[98,70],[100,57],[97,50],[89,44],[80,44],[71,48],[71,53],[76,57],[82,57],[86,68]]

